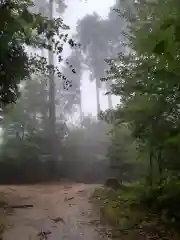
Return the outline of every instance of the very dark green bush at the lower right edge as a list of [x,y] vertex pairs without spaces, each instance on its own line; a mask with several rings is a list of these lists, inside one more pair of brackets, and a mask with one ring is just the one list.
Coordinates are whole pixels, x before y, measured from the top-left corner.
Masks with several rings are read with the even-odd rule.
[[140,204],[151,208],[162,221],[179,229],[180,226],[180,180],[165,179],[161,185],[144,186],[139,195]]

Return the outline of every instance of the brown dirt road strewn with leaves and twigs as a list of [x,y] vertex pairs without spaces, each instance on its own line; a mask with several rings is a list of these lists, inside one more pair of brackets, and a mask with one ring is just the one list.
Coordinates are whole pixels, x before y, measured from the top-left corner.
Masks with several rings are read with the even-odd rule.
[[0,186],[9,204],[33,204],[15,209],[7,217],[3,240],[99,240],[109,239],[92,209],[89,195],[97,186],[53,184]]

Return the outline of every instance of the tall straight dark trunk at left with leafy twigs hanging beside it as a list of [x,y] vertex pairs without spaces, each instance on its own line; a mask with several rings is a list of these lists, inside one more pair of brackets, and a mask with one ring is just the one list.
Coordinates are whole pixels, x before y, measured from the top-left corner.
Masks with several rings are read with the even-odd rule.
[[[39,10],[40,12],[42,12],[43,15],[48,16],[49,20],[52,21],[54,19],[54,6],[56,4],[58,4],[58,9],[57,12],[58,14],[61,14],[64,11],[65,8],[65,4],[64,2],[56,2],[54,0],[49,0],[49,2],[45,3],[42,5],[41,2],[36,1],[36,8],[37,10]],[[59,21],[61,23],[61,26],[63,29],[67,30],[68,27],[65,26],[62,22],[62,18],[59,18]],[[50,137],[50,145],[51,145],[51,150],[52,150],[52,171],[55,171],[56,169],[56,152],[57,152],[57,144],[56,144],[56,104],[58,102],[58,104],[62,105],[62,103],[59,103],[59,101],[61,100],[61,98],[59,97],[59,99],[57,99],[57,89],[56,89],[56,79],[58,77],[61,78],[61,81],[63,82],[65,87],[70,86],[70,81],[67,80],[67,78],[61,74],[60,72],[58,72],[58,77],[55,76],[55,72],[54,69],[52,68],[52,66],[54,66],[54,49],[56,52],[58,52],[58,54],[61,54],[63,51],[63,44],[65,42],[68,41],[67,39],[68,34],[61,34],[60,35],[60,40],[58,41],[58,44],[54,44],[55,43],[55,39],[54,36],[49,36],[48,39],[48,44],[49,44],[49,50],[48,50],[48,62],[49,62],[49,137]],[[75,43],[72,40],[68,41],[69,44],[71,46],[74,46]],[[58,57],[59,62],[61,61],[61,56],[59,55]]]

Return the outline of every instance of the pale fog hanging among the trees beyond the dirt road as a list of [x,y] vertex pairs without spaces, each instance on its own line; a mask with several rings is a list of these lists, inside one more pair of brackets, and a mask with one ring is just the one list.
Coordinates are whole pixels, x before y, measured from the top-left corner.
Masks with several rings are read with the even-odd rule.
[[[32,11],[49,17],[49,7],[36,0]],[[112,82],[100,80],[109,70],[105,59],[124,52],[126,23],[113,10],[118,7],[119,1],[54,1],[52,16],[63,18],[70,29],[62,33],[80,46],[63,43],[62,61],[59,55],[27,48],[29,54],[36,52],[57,66],[62,75],[49,78],[45,73],[22,81],[21,96],[2,121],[2,183],[103,183],[119,174],[107,157],[111,125],[99,119],[101,111],[120,103],[118,97],[105,95]]]

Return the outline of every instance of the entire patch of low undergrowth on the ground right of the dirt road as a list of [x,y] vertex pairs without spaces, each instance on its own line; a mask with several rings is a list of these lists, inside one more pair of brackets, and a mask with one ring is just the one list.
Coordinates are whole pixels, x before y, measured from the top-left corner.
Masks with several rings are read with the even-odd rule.
[[92,198],[100,205],[101,222],[113,226],[114,237],[176,240],[180,237],[179,193],[174,186],[170,194],[169,187],[149,189],[136,183],[117,191],[99,188]]

